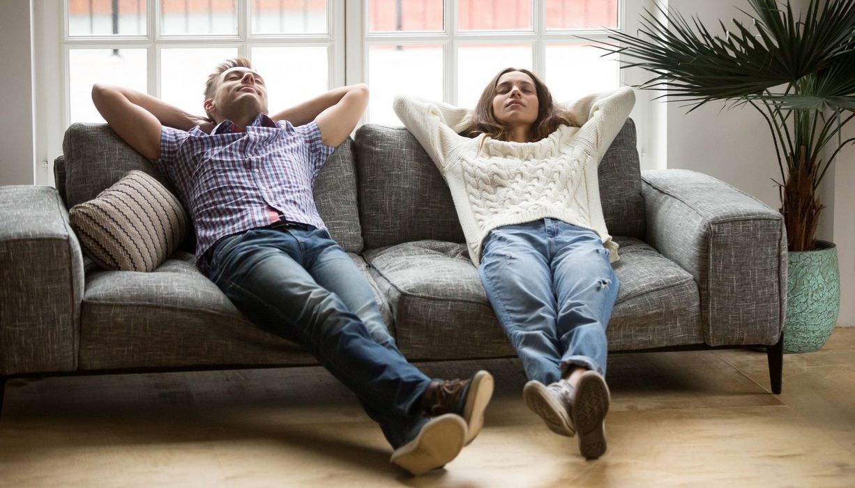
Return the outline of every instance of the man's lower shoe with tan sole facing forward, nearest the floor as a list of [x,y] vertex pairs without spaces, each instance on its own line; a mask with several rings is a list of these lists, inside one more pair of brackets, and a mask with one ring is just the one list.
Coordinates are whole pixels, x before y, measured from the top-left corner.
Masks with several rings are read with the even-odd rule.
[[466,422],[459,415],[439,415],[422,426],[416,438],[392,452],[392,462],[418,476],[445,466],[460,454]]

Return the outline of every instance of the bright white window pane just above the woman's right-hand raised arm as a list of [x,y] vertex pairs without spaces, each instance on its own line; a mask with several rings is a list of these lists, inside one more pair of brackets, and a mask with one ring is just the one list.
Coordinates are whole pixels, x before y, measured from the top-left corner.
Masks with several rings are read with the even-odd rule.
[[597,91],[620,86],[615,59],[590,44],[548,44],[546,84],[557,102],[568,102]]

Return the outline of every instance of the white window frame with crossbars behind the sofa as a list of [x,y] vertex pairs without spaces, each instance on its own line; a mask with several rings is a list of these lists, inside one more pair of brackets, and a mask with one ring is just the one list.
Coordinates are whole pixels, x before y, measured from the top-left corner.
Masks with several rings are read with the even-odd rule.
[[[594,40],[606,40],[603,29],[545,28],[545,0],[530,0],[533,12],[531,31],[459,31],[457,30],[457,1],[443,0],[443,31],[439,32],[368,32],[368,0],[327,0],[326,34],[251,34],[251,2],[238,0],[237,35],[164,35],[160,32],[159,15],[161,0],[146,2],[146,32],[144,35],[116,36],[70,36],[68,32],[68,0],[32,0],[34,21],[34,69],[36,85],[36,168],[37,182],[54,185],[53,158],[62,154],[62,137],[70,123],[70,79],[69,51],[72,49],[123,49],[144,48],[148,63],[146,91],[160,97],[160,56],[164,47],[237,47],[240,56],[248,56],[256,46],[327,46],[329,53],[328,87],[355,83],[369,83],[368,54],[373,44],[438,44],[444,56],[443,99],[448,103],[457,101],[457,47],[461,44],[513,44],[533,45],[534,73],[545,74],[545,45],[551,41],[573,41],[572,35],[584,35]],[[634,32],[637,19],[643,8],[651,9],[652,0],[618,0],[618,28]],[[449,26],[454,26],[449,29]],[[345,50],[346,48],[346,50]],[[60,68],[56,76],[56,68]],[[621,69],[619,80],[622,85],[638,85],[644,81],[645,72],[640,68]],[[200,80],[201,84],[201,80]],[[663,124],[664,104],[651,102],[655,94],[636,91],[638,101],[631,114],[637,122],[638,148],[641,168],[654,168],[663,164],[657,157],[657,166],[647,157],[648,147],[655,145],[664,156],[664,142],[653,136],[657,132],[654,124]],[[654,108],[655,107],[655,108]],[[361,124],[369,120],[363,115]]]

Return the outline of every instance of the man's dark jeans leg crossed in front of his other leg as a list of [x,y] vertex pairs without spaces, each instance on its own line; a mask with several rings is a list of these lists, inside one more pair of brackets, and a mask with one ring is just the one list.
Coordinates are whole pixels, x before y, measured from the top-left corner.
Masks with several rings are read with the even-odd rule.
[[[228,238],[227,238],[228,239]],[[430,379],[377,344],[339,297],[315,282],[290,232],[257,229],[217,246],[211,279],[258,326],[300,344],[380,415],[419,420],[410,406]],[[413,432],[385,432],[394,447]]]

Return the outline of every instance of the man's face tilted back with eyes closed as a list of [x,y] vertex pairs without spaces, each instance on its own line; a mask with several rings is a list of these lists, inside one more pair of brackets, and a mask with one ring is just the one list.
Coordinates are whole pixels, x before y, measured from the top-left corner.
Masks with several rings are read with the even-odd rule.
[[267,86],[251,68],[230,68],[220,75],[214,97],[205,100],[204,107],[209,114],[221,115],[223,119],[267,114]]

